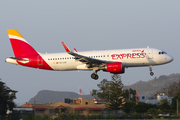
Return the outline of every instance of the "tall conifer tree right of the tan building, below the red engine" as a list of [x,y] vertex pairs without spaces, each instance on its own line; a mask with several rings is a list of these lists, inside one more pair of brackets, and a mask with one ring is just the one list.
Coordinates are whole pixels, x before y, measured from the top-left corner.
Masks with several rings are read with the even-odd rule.
[[98,98],[106,101],[107,109],[119,110],[123,105],[123,84],[121,76],[114,74],[111,81],[103,79],[97,86],[99,90],[92,90],[91,95],[97,95]]

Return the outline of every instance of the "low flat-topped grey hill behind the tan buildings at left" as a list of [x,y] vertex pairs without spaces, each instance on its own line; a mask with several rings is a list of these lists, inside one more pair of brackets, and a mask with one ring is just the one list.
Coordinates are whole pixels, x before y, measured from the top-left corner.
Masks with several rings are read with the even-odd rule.
[[62,91],[51,91],[51,90],[42,90],[37,93],[36,96],[31,98],[28,104],[45,104],[45,103],[57,103],[63,102],[64,98],[85,98],[93,100],[91,95],[79,95],[75,92],[62,92]]

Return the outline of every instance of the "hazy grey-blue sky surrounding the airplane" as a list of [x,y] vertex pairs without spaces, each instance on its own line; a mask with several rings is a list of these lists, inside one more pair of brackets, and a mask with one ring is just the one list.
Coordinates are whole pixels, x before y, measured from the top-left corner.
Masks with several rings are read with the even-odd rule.
[[[16,103],[23,104],[40,90],[85,94],[111,74],[92,71],[46,71],[5,63],[14,56],[6,29],[17,29],[40,53],[65,52],[61,42],[78,51],[152,47],[174,57],[172,63],[128,68],[124,85],[148,81],[160,75],[179,73],[180,1],[173,0],[3,0],[0,1],[1,79],[19,91]],[[140,86],[139,86],[140,87]]]

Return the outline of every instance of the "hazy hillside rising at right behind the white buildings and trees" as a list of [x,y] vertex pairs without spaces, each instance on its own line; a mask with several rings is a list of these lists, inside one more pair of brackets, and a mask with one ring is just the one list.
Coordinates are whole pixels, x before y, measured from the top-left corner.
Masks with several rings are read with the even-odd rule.
[[[135,84],[130,85],[131,89],[136,90],[137,93],[146,94],[148,97],[154,96],[157,91],[161,91],[166,86],[169,86],[173,82],[180,82],[180,73],[171,74],[168,76],[162,75],[159,78],[154,78],[148,82],[138,81]],[[125,86],[124,89],[128,89],[129,86]]]

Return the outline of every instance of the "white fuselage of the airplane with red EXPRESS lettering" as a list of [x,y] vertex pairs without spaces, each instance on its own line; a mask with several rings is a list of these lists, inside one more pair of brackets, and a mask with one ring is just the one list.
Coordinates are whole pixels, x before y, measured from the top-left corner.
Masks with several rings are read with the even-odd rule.
[[[78,52],[78,54],[110,62],[122,62],[124,67],[155,66],[173,60],[172,56],[153,48],[88,51]],[[68,53],[40,55],[53,70],[91,70],[86,67],[86,64],[75,60],[74,56]]]

